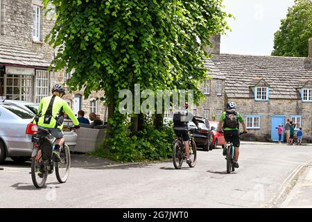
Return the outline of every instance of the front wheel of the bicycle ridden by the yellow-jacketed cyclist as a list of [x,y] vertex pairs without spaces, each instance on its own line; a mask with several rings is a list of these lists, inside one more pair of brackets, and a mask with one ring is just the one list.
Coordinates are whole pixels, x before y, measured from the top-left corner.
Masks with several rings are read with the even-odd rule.
[[55,162],[55,175],[58,182],[66,182],[71,168],[71,153],[69,147],[64,144],[60,148],[60,162]]

